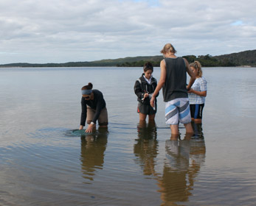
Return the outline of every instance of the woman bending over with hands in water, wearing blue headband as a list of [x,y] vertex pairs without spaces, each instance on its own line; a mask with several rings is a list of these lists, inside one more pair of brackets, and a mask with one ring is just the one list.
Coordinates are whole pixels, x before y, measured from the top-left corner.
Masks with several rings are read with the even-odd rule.
[[98,121],[100,127],[108,126],[108,111],[105,107],[105,100],[103,99],[103,93],[100,90],[92,90],[92,84],[89,83],[81,88],[82,91],[82,113],[79,129],[83,129],[86,124],[89,124],[86,132],[92,132],[92,129],[96,127],[96,121]]

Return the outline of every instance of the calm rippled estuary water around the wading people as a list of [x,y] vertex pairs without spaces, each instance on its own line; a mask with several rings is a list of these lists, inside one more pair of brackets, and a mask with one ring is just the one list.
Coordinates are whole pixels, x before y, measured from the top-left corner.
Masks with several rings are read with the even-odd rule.
[[[203,124],[170,141],[162,93],[156,124],[139,124],[142,68],[0,68],[0,205],[255,205],[256,68],[203,72]],[[88,82],[109,125],[84,135]]]

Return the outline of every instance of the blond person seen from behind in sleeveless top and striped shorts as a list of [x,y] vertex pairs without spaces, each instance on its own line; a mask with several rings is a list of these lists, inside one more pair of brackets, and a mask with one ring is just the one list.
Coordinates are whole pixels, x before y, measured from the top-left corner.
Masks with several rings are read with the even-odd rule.
[[[179,135],[179,122],[184,124],[187,134],[193,134],[187,90],[190,90],[196,76],[187,60],[175,55],[176,49],[172,44],[165,44],[161,53],[165,59],[160,63],[159,85],[152,95],[151,105],[154,104],[156,94],[163,88],[165,122],[170,124],[171,134],[176,139]],[[186,86],[187,74],[190,75],[190,82]]]

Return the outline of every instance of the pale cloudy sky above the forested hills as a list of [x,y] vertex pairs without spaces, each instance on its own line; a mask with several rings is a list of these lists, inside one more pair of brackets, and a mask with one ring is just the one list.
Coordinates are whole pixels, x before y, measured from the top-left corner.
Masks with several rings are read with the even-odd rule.
[[256,49],[252,0],[0,0],[0,64]]

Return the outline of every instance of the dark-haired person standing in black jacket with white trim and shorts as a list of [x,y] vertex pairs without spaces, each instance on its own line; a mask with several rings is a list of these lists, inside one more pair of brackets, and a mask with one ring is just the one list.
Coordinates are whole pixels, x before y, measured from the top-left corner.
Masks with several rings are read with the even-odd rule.
[[156,101],[154,107],[151,107],[150,100],[156,89],[157,82],[152,76],[153,65],[151,63],[145,63],[143,70],[142,77],[139,77],[134,85],[134,93],[138,96],[137,100],[139,102],[137,111],[139,113],[139,121],[145,121],[147,115],[148,121],[153,121],[156,116]]

